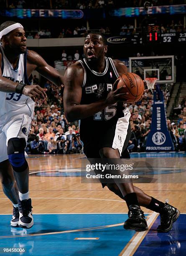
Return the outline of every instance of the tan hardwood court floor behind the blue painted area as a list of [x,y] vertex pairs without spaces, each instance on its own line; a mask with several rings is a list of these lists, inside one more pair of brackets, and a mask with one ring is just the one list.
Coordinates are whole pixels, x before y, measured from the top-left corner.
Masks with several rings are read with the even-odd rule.
[[[149,155],[149,154],[148,154]],[[137,161],[144,159],[147,154],[141,154]],[[135,156],[135,155],[134,155]],[[163,155],[162,155],[163,156]],[[30,196],[32,198],[33,213],[122,213],[127,212],[127,206],[120,197],[110,192],[107,187],[102,189],[99,183],[82,183],[79,177],[81,159],[84,155],[29,155],[27,161],[30,166]],[[163,156],[164,157],[164,156]],[[166,157],[166,156],[165,156]],[[157,168],[161,165],[159,156],[155,160]],[[163,159],[166,166],[171,168],[185,168],[186,157],[173,155]],[[160,163],[160,164],[158,164]],[[163,171],[162,171],[163,172]],[[167,183],[136,184],[145,193],[158,200],[169,200],[171,205],[181,212],[186,212],[186,184],[171,183],[184,177],[185,172],[171,174],[165,172],[163,177]],[[157,176],[157,175],[156,175]],[[155,175],[154,175],[155,177]],[[183,179],[183,182],[184,182]],[[148,209],[143,208],[148,213]],[[12,205],[3,194],[0,187],[0,214],[12,213]]]

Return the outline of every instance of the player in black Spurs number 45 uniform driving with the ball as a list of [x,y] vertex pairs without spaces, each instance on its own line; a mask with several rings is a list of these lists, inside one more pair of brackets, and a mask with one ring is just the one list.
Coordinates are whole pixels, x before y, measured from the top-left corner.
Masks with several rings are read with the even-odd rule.
[[[69,121],[81,120],[80,137],[84,143],[87,158],[120,159],[128,158],[127,144],[130,139],[130,113],[123,110],[121,89],[117,89],[117,78],[127,72],[119,60],[105,57],[107,41],[100,33],[89,33],[84,41],[82,61],[71,65],[64,77],[64,110]],[[122,102],[122,103],[121,103]],[[144,206],[161,215],[158,230],[171,230],[179,211],[146,195],[130,183],[104,184],[126,201],[129,218],[125,229],[143,231],[147,223],[140,209]]]

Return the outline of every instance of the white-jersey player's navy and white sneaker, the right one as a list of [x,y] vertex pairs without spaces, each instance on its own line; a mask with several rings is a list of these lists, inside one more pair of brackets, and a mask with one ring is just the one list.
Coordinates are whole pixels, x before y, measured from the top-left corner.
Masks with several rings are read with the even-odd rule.
[[28,200],[18,200],[19,227],[31,228],[33,226],[31,198]]

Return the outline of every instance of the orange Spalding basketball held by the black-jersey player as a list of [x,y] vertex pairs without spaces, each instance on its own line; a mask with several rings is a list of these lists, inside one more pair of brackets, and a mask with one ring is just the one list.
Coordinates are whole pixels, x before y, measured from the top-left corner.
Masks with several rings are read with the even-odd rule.
[[117,88],[126,86],[120,93],[128,92],[128,95],[124,95],[124,98],[128,100],[127,103],[139,101],[144,92],[144,83],[141,77],[134,73],[125,73],[119,79]]

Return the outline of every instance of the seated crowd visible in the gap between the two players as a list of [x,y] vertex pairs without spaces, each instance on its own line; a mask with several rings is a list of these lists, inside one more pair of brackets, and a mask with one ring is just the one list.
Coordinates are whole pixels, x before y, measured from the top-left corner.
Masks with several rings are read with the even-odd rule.
[[[34,84],[38,84],[36,76]],[[29,154],[70,154],[82,152],[79,127],[70,124],[64,115],[62,99],[54,84],[46,81],[48,98],[36,99],[34,117],[28,136],[26,152]]]

